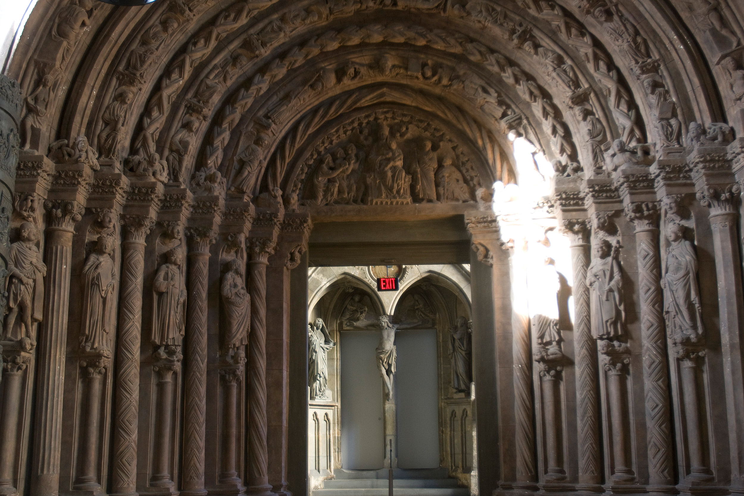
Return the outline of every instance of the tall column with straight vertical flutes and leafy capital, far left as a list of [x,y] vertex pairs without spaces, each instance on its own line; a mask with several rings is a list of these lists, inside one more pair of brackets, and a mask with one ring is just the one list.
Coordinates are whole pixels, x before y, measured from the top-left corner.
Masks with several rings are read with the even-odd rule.
[[70,300],[72,236],[82,218],[77,202],[47,202],[47,265],[42,332],[36,372],[36,423],[33,431],[31,494],[54,496],[60,487],[62,392],[65,381],[65,345]]

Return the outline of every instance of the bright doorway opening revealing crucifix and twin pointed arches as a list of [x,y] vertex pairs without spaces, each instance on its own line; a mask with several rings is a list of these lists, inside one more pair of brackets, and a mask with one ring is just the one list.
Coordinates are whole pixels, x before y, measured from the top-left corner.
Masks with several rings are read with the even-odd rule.
[[[379,292],[377,277],[399,290]],[[387,487],[391,466],[404,487],[471,494],[470,266],[312,267],[308,286],[313,494]]]

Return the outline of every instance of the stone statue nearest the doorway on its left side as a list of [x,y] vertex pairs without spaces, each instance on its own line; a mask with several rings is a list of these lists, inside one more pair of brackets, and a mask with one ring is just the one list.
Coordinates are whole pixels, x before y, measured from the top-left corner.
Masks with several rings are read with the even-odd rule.
[[219,289],[225,307],[224,347],[230,362],[236,350],[248,344],[248,328],[251,326],[251,297],[243,281],[244,273],[243,260],[230,260],[225,264]]

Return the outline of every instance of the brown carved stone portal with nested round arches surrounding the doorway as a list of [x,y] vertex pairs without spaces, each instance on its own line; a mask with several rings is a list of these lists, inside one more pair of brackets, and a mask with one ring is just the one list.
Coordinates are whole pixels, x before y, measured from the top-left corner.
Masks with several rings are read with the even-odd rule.
[[742,492],[743,16],[35,4],[2,45],[0,494],[308,494],[312,274],[391,263],[469,265],[423,278],[471,295],[474,493]]

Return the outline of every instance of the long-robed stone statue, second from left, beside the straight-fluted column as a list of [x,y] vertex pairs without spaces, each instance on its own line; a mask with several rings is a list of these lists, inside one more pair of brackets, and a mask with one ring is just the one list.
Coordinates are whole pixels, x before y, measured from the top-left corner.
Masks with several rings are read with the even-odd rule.
[[86,352],[109,355],[109,342],[116,325],[116,267],[111,254],[114,239],[98,237],[96,250],[83,266],[83,322],[80,324],[80,347]]

